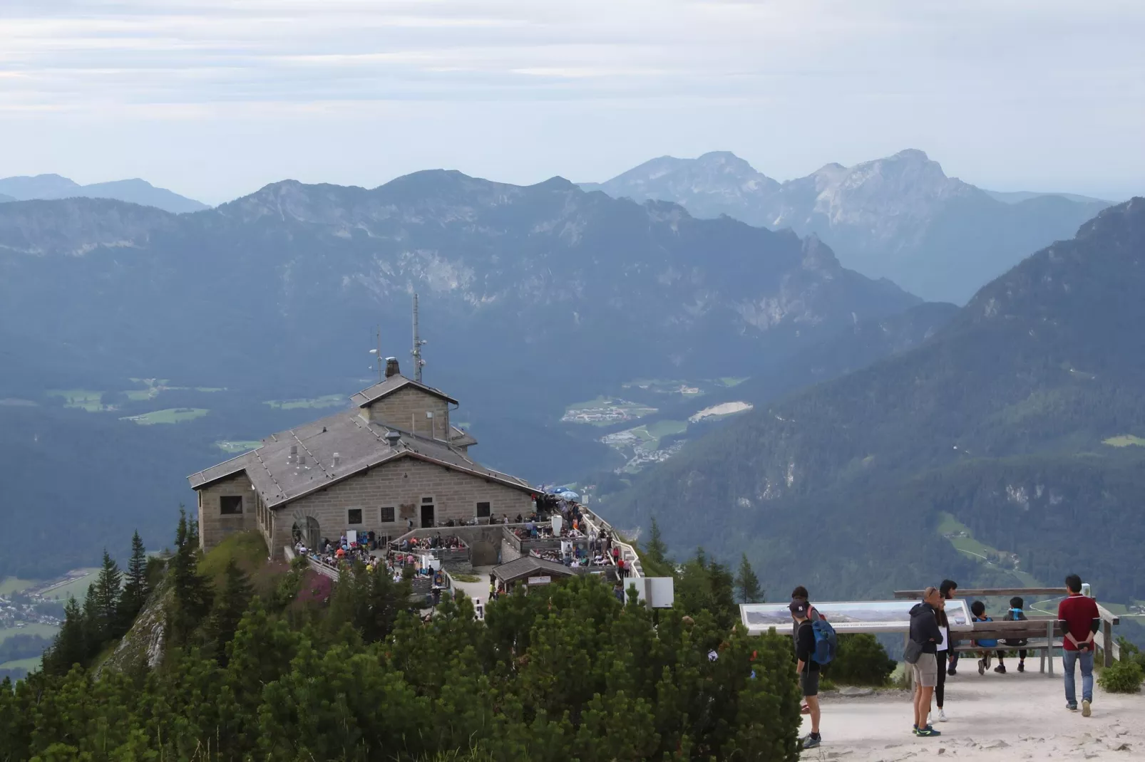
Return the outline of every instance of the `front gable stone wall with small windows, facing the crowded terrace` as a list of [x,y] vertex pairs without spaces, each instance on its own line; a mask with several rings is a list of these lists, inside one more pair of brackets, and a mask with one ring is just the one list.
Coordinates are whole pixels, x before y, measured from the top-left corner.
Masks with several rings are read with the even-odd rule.
[[[484,530],[489,533],[488,539],[482,537],[480,540],[476,538],[471,540],[468,532],[463,537],[469,543],[475,565],[482,562],[490,563],[485,561],[489,555],[484,547],[487,545],[492,547],[492,555],[496,556],[504,527],[495,525],[447,529],[444,527],[447,521],[473,519],[479,502],[490,503],[491,513],[497,516],[527,514],[532,509],[530,492],[436,463],[402,458],[273,510],[275,529],[269,545],[273,555],[278,557],[282,547],[291,543],[291,526],[295,514],[317,519],[319,537],[335,539],[346,530],[353,529],[372,530],[381,537],[397,538],[408,533],[411,518],[413,525],[420,527],[421,506],[426,505],[424,500],[427,498],[434,506],[435,525],[442,527],[442,532],[461,534],[461,530],[466,529]],[[388,507],[394,508],[394,521],[382,522],[381,509]],[[350,509],[362,510],[361,524],[349,524]]]

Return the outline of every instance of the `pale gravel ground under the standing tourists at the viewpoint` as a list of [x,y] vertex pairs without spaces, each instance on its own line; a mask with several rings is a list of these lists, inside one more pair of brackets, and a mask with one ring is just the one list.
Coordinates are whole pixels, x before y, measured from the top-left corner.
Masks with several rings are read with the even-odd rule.
[[[1032,670],[979,675],[973,661],[946,682],[948,722],[931,722],[939,738],[911,735],[909,696],[878,691],[872,696],[823,696],[823,743],[803,760],[899,762],[900,760],[1145,760],[1145,696],[1105,693],[1093,686],[1093,716],[1068,712],[1061,662],[1055,675]],[[1081,700],[1081,673],[1077,674]],[[804,717],[804,730],[810,721]]]

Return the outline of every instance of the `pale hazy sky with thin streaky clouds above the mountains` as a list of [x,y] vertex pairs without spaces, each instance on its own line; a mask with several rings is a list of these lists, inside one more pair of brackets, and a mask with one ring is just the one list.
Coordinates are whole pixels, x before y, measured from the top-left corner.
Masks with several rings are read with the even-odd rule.
[[207,203],[432,167],[787,180],[919,148],[998,190],[1145,193],[1142,0],[0,0],[0,176]]

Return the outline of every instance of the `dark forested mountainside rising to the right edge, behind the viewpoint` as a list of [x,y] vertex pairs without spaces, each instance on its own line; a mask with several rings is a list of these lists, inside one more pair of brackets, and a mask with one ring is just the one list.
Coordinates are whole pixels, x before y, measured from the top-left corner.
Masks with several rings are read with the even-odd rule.
[[1105,600],[1145,600],[1143,289],[1136,198],[914,348],[757,406],[603,510],[821,598],[1076,571]]

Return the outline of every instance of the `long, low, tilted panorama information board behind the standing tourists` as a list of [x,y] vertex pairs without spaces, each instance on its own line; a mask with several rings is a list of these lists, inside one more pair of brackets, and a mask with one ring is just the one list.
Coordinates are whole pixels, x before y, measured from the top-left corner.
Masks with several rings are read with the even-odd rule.
[[[910,629],[910,610],[918,601],[843,601],[812,605],[839,633],[903,633]],[[965,601],[947,601],[946,616],[951,630],[972,629]],[[751,633],[763,633],[771,627],[783,629],[792,622],[787,603],[741,604],[740,618]]]

